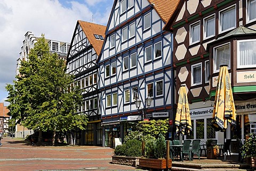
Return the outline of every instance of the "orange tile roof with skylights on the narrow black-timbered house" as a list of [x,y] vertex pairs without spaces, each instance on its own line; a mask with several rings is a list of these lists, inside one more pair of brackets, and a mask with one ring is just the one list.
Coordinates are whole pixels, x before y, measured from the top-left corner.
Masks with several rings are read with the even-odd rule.
[[78,20],[78,23],[81,25],[87,39],[90,41],[90,44],[93,46],[95,52],[99,56],[103,45],[103,40],[96,39],[94,34],[101,35],[103,38],[105,38],[106,26],[81,20]]

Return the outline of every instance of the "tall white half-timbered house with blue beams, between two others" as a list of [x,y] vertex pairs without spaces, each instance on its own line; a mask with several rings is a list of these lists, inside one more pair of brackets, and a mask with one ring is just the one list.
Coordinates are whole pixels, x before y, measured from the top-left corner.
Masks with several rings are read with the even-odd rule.
[[[99,58],[103,145],[113,146],[142,118],[173,117],[172,33],[177,1],[115,0]],[[145,99],[153,101],[147,108]],[[142,101],[137,110],[134,100]],[[144,115],[142,115],[144,114]]]

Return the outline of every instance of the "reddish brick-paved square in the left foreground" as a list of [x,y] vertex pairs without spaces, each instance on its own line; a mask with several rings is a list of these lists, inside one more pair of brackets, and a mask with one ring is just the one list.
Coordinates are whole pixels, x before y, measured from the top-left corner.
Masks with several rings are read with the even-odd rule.
[[31,146],[21,139],[4,138],[0,170],[139,170],[110,164],[113,149],[96,146]]

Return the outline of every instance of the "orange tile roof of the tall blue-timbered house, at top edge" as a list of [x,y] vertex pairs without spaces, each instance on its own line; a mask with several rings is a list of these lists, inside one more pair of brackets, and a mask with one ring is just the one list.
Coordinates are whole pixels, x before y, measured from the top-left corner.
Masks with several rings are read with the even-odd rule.
[[154,4],[154,8],[166,23],[177,7],[179,0],[148,0],[150,4]]

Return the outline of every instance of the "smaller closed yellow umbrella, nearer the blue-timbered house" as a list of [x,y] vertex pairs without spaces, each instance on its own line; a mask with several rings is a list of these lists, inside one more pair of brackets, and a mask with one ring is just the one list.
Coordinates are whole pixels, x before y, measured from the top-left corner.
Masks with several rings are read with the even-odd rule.
[[180,87],[179,102],[175,116],[176,133],[189,135],[192,131],[191,118],[188,106],[188,97],[185,86]]

